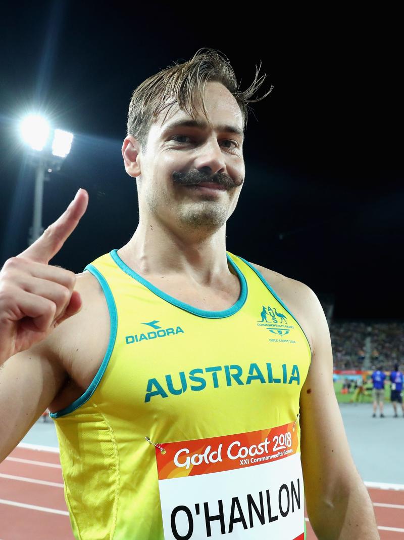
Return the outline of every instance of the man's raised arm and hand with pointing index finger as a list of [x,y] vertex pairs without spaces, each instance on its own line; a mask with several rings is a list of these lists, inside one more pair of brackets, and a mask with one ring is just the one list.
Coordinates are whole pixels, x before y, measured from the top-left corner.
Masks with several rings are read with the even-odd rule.
[[0,272],[0,461],[53,401],[66,379],[49,341],[80,311],[75,275],[48,265],[86,211],[81,190],[44,234]]

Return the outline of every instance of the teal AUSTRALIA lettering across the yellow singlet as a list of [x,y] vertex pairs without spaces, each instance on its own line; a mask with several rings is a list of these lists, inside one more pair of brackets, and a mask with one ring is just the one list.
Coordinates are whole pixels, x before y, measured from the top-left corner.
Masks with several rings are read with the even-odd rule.
[[[152,397],[169,397],[184,394],[187,390],[199,392],[205,388],[219,388],[232,386],[233,384],[300,384],[299,368],[296,364],[288,367],[287,364],[276,367],[273,372],[271,362],[266,362],[264,367],[257,363],[251,363],[248,373],[243,372],[241,366],[231,364],[228,366],[211,366],[191,369],[188,374],[179,372],[177,375],[165,375],[165,378],[156,377],[149,379],[146,388],[145,403],[149,403]],[[194,384],[192,384],[194,383]]]

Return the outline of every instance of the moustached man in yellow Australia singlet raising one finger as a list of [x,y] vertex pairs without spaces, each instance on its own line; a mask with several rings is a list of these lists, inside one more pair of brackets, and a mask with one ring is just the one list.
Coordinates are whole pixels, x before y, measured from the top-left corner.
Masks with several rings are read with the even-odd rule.
[[3,268],[1,457],[48,406],[76,538],[301,539],[303,478],[318,538],[379,538],[319,301],[226,253],[258,86],[212,50],[147,79],[122,146],[133,238],[76,279],[49,266],[81,191]]

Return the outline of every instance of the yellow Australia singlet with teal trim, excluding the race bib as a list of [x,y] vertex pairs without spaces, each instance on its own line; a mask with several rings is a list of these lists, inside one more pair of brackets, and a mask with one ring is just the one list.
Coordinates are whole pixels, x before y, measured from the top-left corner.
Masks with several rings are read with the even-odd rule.
[[293,423],[299,443],[308,340],[249,262],[227,260],[241,293],[219,312],[163,293],[116,250],[86,267],[108,303],[108,350],[86,392],[50,415],[76,539],[163,540],[156,449],[145,437],[164,444]]

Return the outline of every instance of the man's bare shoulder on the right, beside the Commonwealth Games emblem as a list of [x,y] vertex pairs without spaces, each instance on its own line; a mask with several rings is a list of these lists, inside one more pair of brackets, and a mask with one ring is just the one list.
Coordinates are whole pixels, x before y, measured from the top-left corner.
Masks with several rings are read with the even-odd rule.
[[316,294],[301,281],[288,278],[264,266],[251,264],[262,274],[284,305],[295,316],[313,351],[318,329],[320,328],[323,332],[326,328],[326,332],[328,332],[323,308]]

